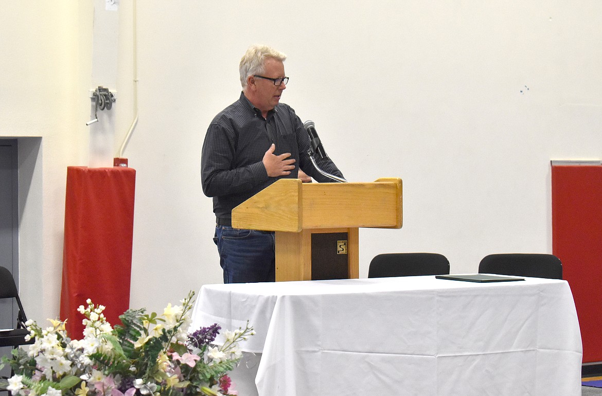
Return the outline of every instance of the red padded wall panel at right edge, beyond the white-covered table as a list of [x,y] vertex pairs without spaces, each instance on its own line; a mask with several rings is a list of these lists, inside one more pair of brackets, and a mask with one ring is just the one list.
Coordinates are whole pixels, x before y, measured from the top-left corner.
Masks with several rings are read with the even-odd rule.
[[600,362],[602,166],[552,167],[552,247],[573,291],[583,362]]

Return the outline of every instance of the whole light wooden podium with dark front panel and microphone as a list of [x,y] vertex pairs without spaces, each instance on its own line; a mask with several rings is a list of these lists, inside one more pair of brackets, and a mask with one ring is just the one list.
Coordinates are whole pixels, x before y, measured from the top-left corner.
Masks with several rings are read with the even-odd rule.
[[232,227],[275,231],[276,281],[359,277],[359,227],[402,227],[402,180],[280,179],[232,209]]

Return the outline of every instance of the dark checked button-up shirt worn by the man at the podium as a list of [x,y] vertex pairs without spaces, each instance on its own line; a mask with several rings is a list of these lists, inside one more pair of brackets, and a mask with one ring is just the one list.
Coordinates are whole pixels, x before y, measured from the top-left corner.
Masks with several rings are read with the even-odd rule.
[[[309,135],[295,111],[278,104],[267,119],[241,93],[240,99],[213,119],[201,153],[203,193],[213,197],[217,217],[230,218],[232,208],[281,178],[297,178],[299,167],[318,182],[331,181],[315,170],[309,159]],[[270,145],[275,155],[291,153],[296,159],[290,175],[270,178],[262,159]],[[327,173],[343,177],[329,158],[315,157]]]

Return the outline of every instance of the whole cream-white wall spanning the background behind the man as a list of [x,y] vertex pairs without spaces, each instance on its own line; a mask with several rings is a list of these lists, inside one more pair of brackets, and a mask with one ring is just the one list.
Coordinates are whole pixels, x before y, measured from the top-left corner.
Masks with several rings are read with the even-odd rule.
[[[134,114],[121,3],[116,150]],[[347,179],[404,181],[403,228],[360,231],[360,276],[382,252],[443,253],[453,272],[488,253],[551,252],[550,159],[601,156],[595,0],[137,4],[140,118],[124,153],[137,170],[135,308],[220,282],[200,147],[238,97],[250,43],[288,55],[282,100],[315,121]],[[0,2],[0,135],[42,137],[21,240],[38,319],[58,314],[66,166],[88,160],[92,20],[88,1]]]

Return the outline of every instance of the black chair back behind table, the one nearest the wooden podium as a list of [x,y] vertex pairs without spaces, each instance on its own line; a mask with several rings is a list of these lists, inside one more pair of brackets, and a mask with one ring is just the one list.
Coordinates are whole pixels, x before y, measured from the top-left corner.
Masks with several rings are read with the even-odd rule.
[[439,253],[383,253],[370,262],[368,277],[444,275],[450,262]]

